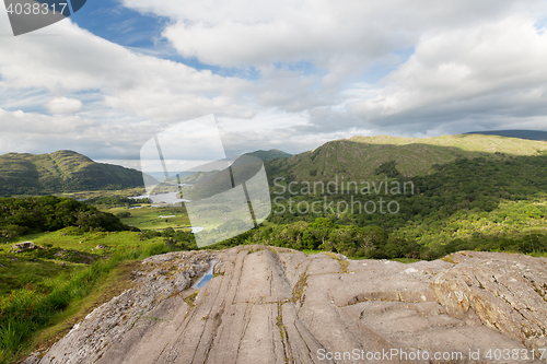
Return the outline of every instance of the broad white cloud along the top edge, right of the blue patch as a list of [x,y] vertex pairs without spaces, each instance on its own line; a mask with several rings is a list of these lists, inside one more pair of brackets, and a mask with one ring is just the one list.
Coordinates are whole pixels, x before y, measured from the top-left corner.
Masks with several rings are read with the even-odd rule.
[[[362,66],[411,47],[429,31],[467,27],[514,11],[537,9],[516,0],[125,0],[141,12],[177,22],[163,35],[186,57],[223,67],[260,67],[272,61],[313,60],[342,67]],[[528,10],[529,9],[529,10]]]

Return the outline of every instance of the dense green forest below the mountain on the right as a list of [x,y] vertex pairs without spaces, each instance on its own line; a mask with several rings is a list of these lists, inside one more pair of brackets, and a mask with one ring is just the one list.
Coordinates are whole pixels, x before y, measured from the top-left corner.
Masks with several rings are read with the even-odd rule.
[[[434,165],[434,173],[411,178],[415,191],[385,193],[290,193],[283,191],[284,213],[272,213],[265,226],[221,243],[271,244],[294,249],[331,250],[356,258],[435,259],[463,249],[543,254],[547,248],[547,156],[514,156],[505,161],[458,158]],[[400,181],[396,163],[375,171],[381,180]],[[383,178],[382,178],[383,177]],[[387,179],[384,179],[386,178]],[[289,184],[286,178],[282,183]],[[302,184],[301,184],[302,185]],[[298,189],[292,189],[298,192]],[[354,191],[354,190],[352,190]],[[299,202],[354,201],[380,197],[395,200],[397,213],[299,213]],[[293,201],[291,213],[287,206]],[[272,207],[276,211],[276,208]],[[278,209],[278,211],[282,211]]]

